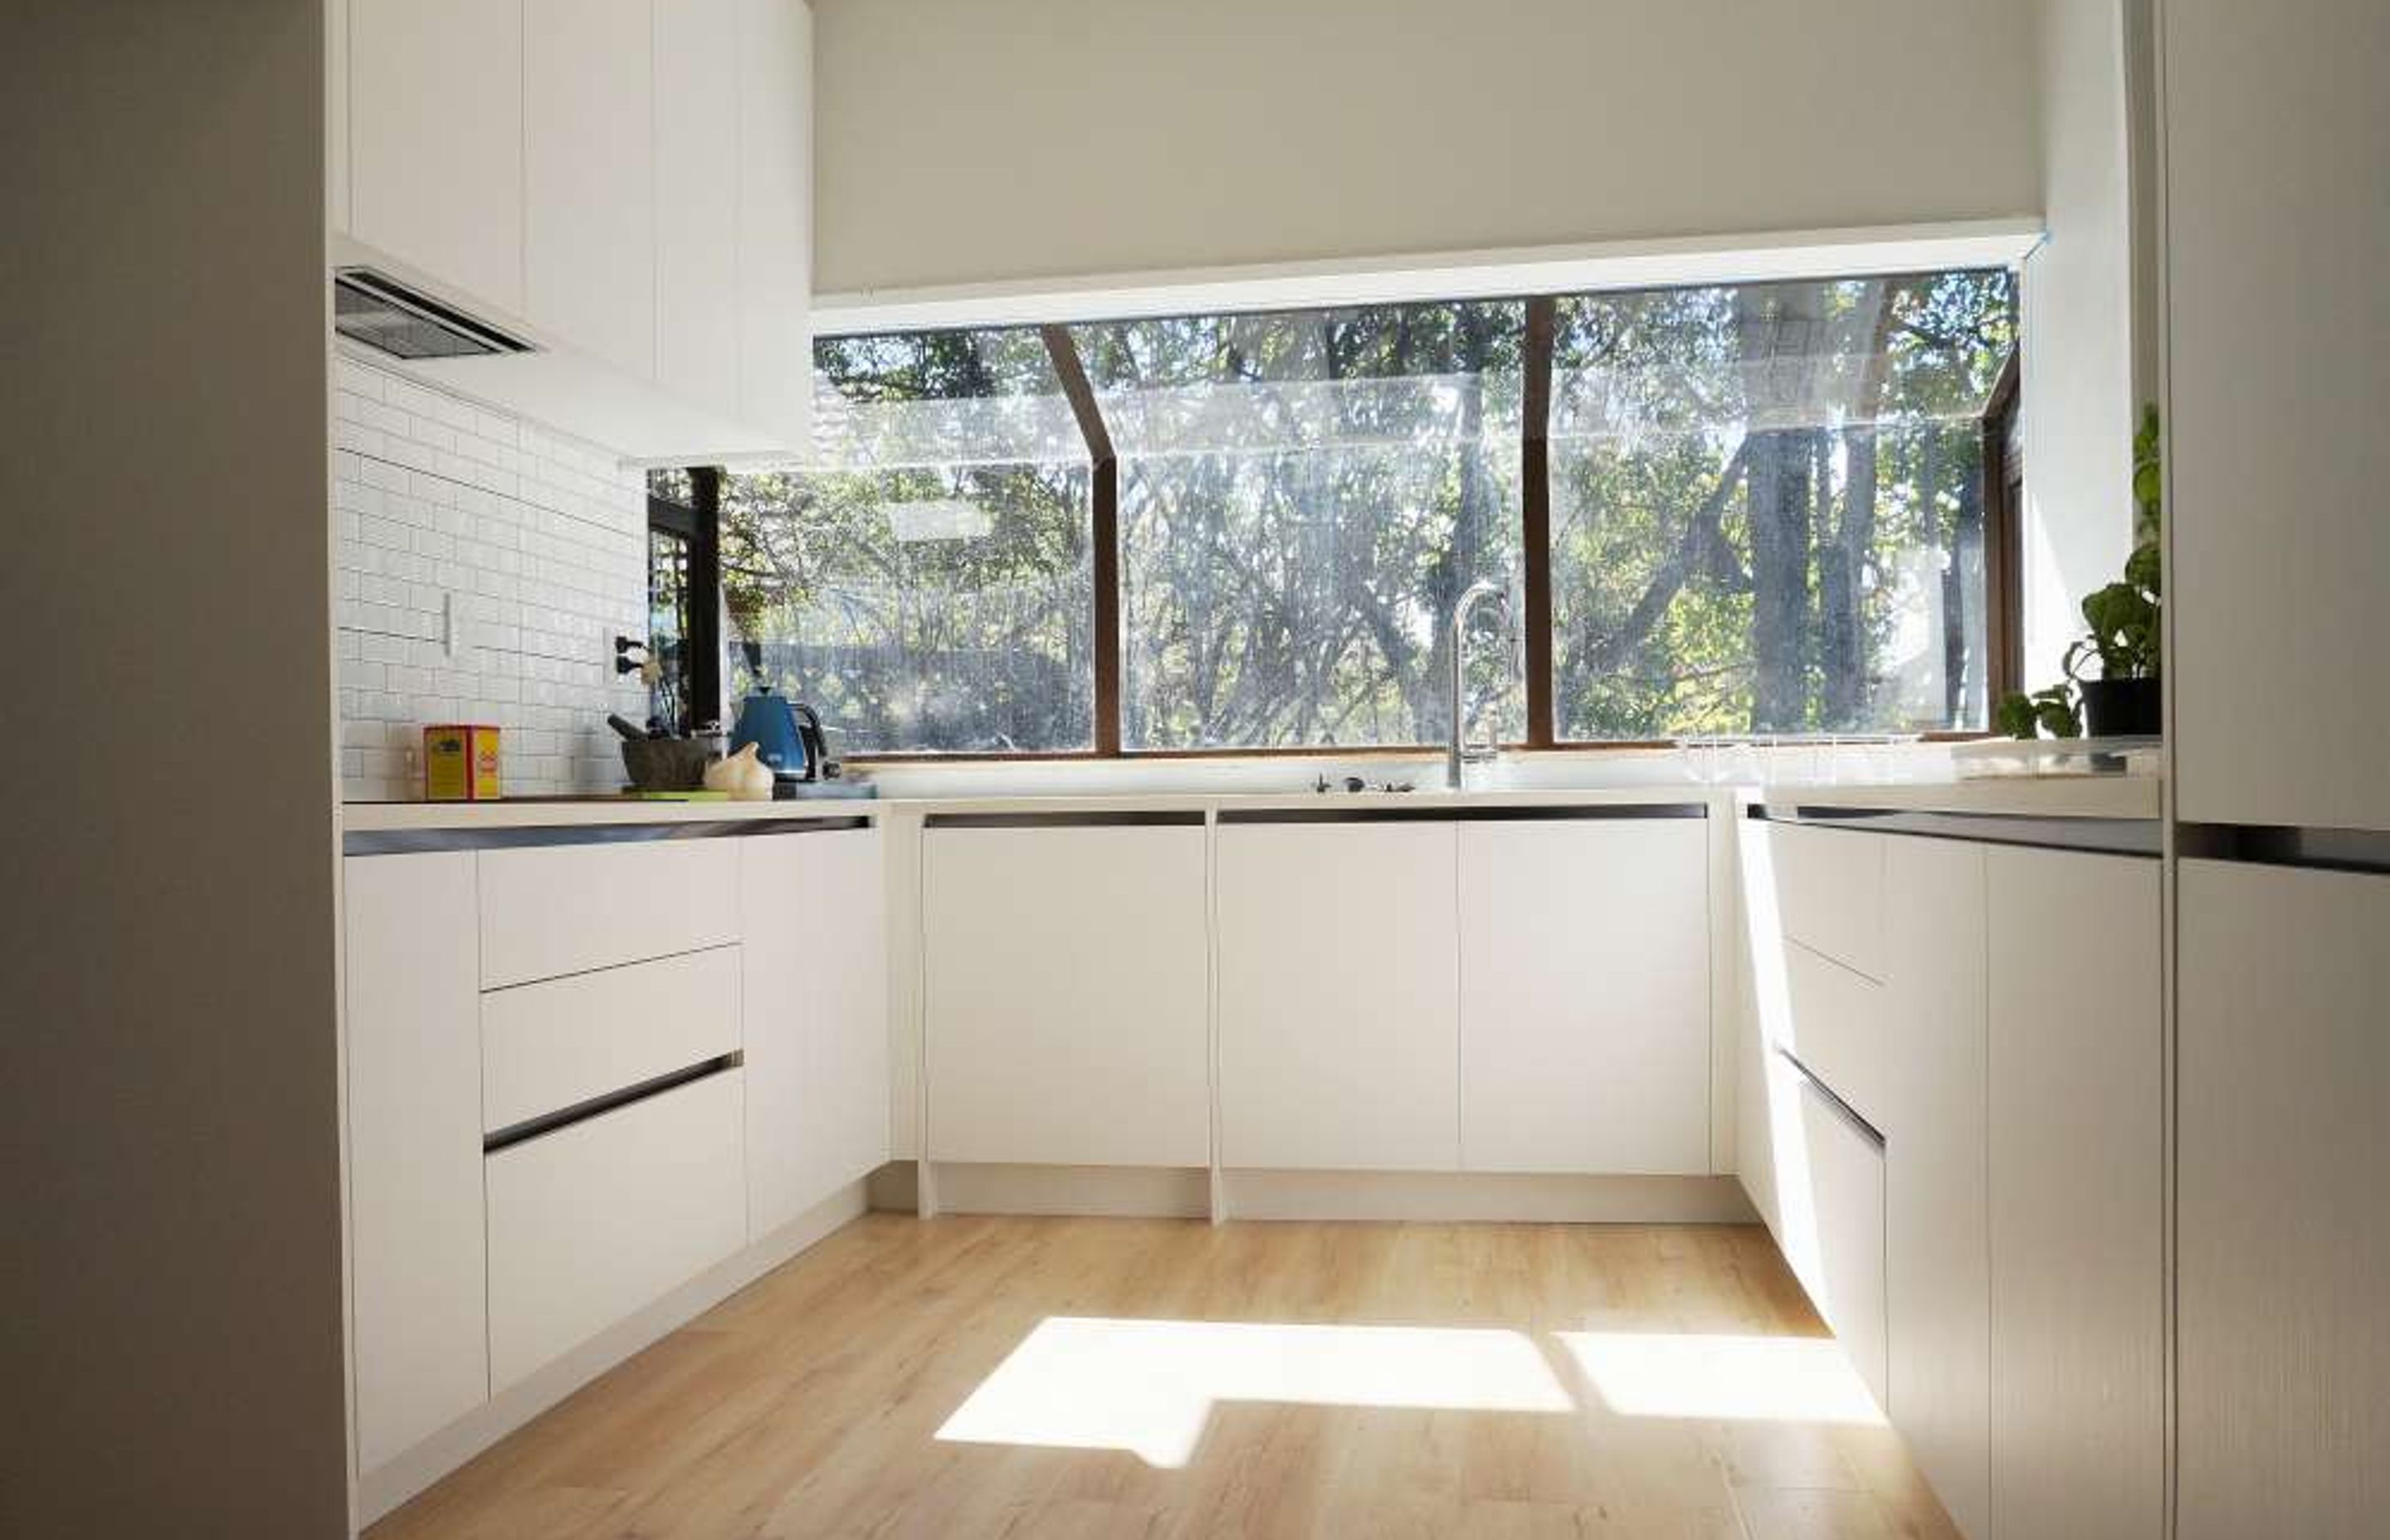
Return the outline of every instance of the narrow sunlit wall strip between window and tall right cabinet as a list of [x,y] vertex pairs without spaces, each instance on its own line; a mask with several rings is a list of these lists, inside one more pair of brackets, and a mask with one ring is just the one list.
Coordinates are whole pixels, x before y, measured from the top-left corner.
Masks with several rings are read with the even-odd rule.
[[2146,5],[2129,2],[2127,31],[2127,0],[2039,0],[2048,239],[2024,263],[2027,689],[2060,677],[2082,595],[2132,550],[2132,428],[2149,395],[2134,375],[2149,368],[2153,297],[2134,258],[2146,60],[2127,72],[2127,36],[2146,45]]

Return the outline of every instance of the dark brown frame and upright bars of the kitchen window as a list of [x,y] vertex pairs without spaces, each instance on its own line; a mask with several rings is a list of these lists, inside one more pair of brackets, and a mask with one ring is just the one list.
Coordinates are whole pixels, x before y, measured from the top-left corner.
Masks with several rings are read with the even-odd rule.
[[[2010,268],[2015,275],[2015,268]],[[1862,275],[1850,275],[1862,277]],[[1883,277],[1900,277],[1898,273]],[[1479,297],[1503,299],[1503,297]],[[1522,653],[1525,653],[1525,705],[1527,737],[1506,739],[1501,748],[1518,753],[1601,753],[1632,748],[1671,748],[1675,739],[1563,739],[1556,734],[1554,703],[1554,634],[1551,634],[1551,361],[1558,332],[1558,306],[1565,294],[1525,294],[1525,409],[1520,414],[1520,562],[1522,562]],[[1424,301],[1422,301],[1424,304]],[[1319,306],[1305,306],[1319,308]],[[1334,308],[1334,306],[1329,306]],[[944,748],[882,748],[848,756],[856,765],[925,765],[925,763],[989,763],[989,760],[1226,760],[1226,758],[1417,758],[1441,753],[1441,744],[1264,744],[1219,748],[1123,748],[1121,746],[1121,462],[1097,404],[1095,387],[1080,359],[1071,325],[1037,325],[1064,397],[1078,418],[1087,445],[1090,464],[1090,552],[1095,567],[1095,746],[1092,748],[1016,748],[1016,751],[944,751]],[[2022,409],[2022,337],[2010,347],[2000,366],[1998,383],[1984,404],[1984,588],[1986,588],[1986,701],[1996,703],[2015,689],[2020,677],[2020,574],[2022,574],[2022,452],[2017,447],[2017,421]],[[691,485],[698,507],[650,497],[650,524],[657,509],[688,512],[695,528],[705,533],[703,545],[691,545],[691,588],[698,588],[698,550],[707,552],[707,588],[719,593],[719,507],[722,471],[691,469]],[[662,528],[662,526],[660,526]],[[719,701],[722,691],[722,631],[719,598],[712,615],[703,619],[710,638],[698,646],[698,617],[691,617],[693,655],[700,670],[710,670],[712,682],[693,682],[691,698]],[[1969,741],[1988,729],[1934,729],[1914,734],[1922,741]],[[1754,734],[1769,737],[1769,734]],[[1869,739],[1886,734],[1850,732],[1828,734]],[[1910,737],[1910,734],[1898,734]]]

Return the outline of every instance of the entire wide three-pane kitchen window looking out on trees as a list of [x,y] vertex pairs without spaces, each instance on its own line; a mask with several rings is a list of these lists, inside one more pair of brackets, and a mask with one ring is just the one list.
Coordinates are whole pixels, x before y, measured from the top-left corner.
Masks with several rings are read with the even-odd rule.
[[[731,693],[858,756],[1981,729],[2005,270],[822,337],[719,478]],[[2005,380],[2005,385],[2003,385]],[[1508,646],[1503,646],[1508,643]]]

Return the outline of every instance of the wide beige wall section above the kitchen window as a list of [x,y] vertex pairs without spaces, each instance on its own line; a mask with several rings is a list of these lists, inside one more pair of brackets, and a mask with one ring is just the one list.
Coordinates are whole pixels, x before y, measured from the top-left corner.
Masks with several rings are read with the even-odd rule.
[[815,0],[815,287],[2032,215],[2027,0]]

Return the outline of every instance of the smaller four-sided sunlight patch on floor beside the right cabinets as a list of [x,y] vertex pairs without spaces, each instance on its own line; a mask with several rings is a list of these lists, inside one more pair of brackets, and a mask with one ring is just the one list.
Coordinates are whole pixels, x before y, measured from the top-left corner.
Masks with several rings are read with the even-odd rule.
[[1620,1416],[1883,1425],[1867,1382],[1828,1337],[1556,1337]]

